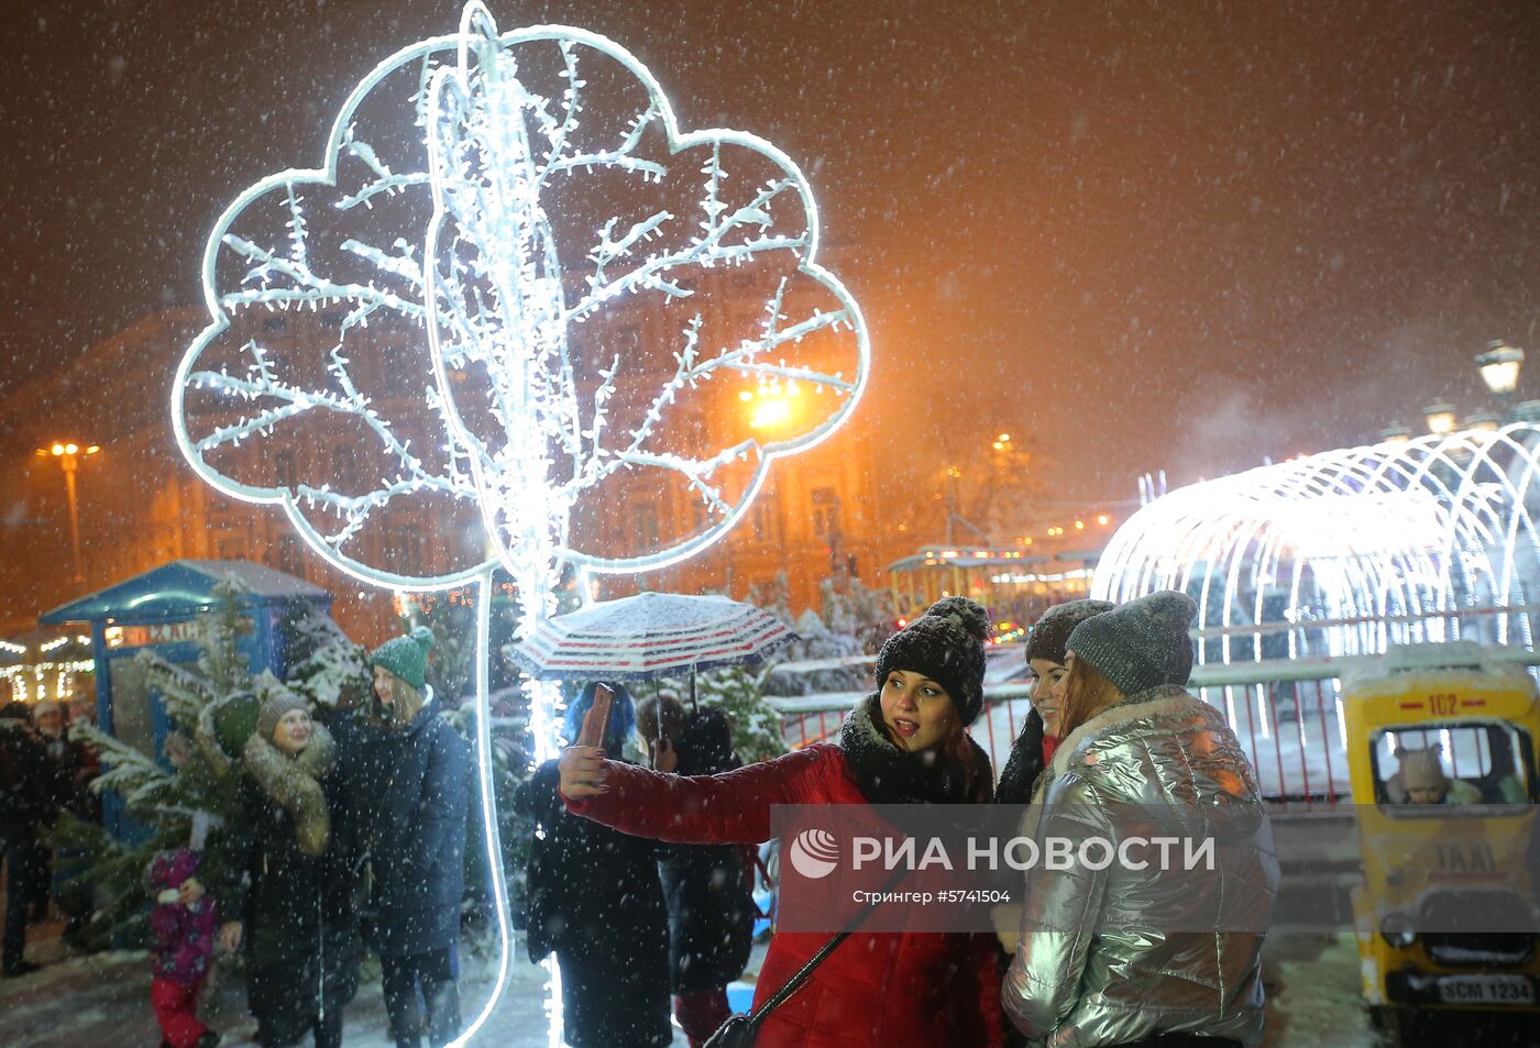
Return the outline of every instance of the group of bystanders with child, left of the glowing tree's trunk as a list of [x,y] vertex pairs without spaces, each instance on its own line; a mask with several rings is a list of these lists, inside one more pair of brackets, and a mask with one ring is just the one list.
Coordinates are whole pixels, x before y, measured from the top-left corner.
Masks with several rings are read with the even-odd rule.
[[[208,853],[177,848],[145,871],[151,991],[162,1048],[211,1048],[199,1019],[219,950],[240,953],[262,1048],[342,1043],[365,946],[380,960],[397,1048],[433,1048],[462,1031],[457,977],[470,748],[427,683],[433,634],[417,628],[373,652],[360,716],[331,726],[270,688],[234,763],[234,800]],[[51,863],[40,834],[60,811],[94,803],[88,748],[52,703],[0,711],[0,840],[5,843],[5,974],[26,962],[26,923]],[[214,862],[208,862],[214,859]],[[209,869],[203,876],[203,869]]]

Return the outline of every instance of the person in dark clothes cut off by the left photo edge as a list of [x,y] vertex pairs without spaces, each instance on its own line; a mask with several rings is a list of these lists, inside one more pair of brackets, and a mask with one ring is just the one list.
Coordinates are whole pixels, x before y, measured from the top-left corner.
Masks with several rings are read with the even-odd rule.
[[23,959],[26,916],[48,868],[37,846],[37,831],[52,822],[54,776],[48,754],[32,731],[31,711],[11,702],[0,709],[0,856],[6,866],[5,946],[0,971],[25,976],[37,965]]

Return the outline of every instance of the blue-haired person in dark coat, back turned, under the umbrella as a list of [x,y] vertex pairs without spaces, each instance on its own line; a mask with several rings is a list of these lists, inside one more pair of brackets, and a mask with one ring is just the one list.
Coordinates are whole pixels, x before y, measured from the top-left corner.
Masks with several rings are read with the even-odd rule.
[[[578,739],[596,685],[567,708],[565,734]],[[619,685],[605,748],[619,756],[636,711]],[[562,808],[561,769],[547,760],[521,788],[536,822],[528,865],[530,960],[556,951],[562,973],[562,1033],[573,1048],[653,1048],[673,1040],[668,1025],[668,909],[658,879],[665,846],[610,829]]]

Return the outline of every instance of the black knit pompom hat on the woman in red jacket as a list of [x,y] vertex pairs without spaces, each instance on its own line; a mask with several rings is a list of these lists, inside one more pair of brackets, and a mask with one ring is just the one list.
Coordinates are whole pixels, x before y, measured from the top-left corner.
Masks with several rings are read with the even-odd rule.
[[882,645],[876,656],[878,688],[895,669],[921,673],[947,689],[964,726],[973,723],[984,708],[984,642],[989,631],[989,612],[976,600],[938,600]]

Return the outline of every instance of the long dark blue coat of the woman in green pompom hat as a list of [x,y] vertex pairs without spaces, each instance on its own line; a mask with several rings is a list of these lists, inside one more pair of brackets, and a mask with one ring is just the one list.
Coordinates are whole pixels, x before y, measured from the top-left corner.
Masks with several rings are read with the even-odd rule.
[[430,700],[399,733],[370,733],[353,777],[373,882],[363,930],[385,957],[444,950],[460,934],[471,756]]

